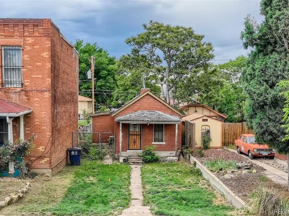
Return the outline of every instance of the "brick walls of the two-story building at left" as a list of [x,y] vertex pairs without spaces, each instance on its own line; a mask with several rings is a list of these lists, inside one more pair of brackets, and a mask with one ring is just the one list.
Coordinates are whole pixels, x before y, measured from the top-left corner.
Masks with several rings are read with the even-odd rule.
[[[57,80],[55,76],[52,76],[53,71],[56,71],[52,67],[58,66],[59,68],[59,62],[53,62],[53,65],[51,62],[52,59],[56,59],[52,58],[52,35],[57,41],[55,43],[56,58],[59,57],[60,52],[63,53],[61,72],[58,71],[57,73],[65,81],[60,82],[58,80],[55,85],[61,88],[55,92],[58,112],[61,112],[58,118],[59,126],[55,126],[55,120],[52,116],[52,105],[54,105],[55,97],[54,92],[52,94],[51,82]],[[60,41],[63,43],[62,51],[59,47],[57,48],[61,43]],[[59,31],[50,19],[0,19],[0,46],[9,45],[22,47],[23,88],[2,88],[2,83],[0,83],[0,98],[32,109],[30,114],[24,116],[24,138],[29,138],[32,133],[36,133],[38,137],[34,142],[35,148],[26,157],[26,160],[33,162],[31,166],[34,169],[52,169],[61,161],[61,158],[65,157],[66,153],[63,149],[66,145],[68,146],[68,143],[71,145],[71,132],[77,130],[77,54],[73,54],[72,47],[60,37]],[[2,82],[1,67],[0,82]],[[63,122],[64,119],[65,122]],[[15,118],[13,120],[14,139],[19,137],[18,123],[18,118]],[[63,128],[64,124],[65,128]],[[55,141],[57,138],[55,135],[56,127],[60,131],[58,138],[60,138],[61,143],[65,143],[65,146],[63,144],[59,146]],[[54,128],[53,133],[52,128]],[[70,131],[69,136],[68,131]],[[53,145],[51,146],[51,144]],[[61,152],[59,152],[60,149],[62,149]]]

